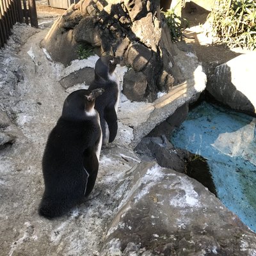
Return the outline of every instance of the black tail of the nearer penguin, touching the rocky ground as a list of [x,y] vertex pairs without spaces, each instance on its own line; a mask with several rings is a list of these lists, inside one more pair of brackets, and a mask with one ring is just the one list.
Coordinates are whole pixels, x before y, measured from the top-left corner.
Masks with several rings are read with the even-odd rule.
[[38,214],[45,218],[52,219],[60,217],[67,212],[68,209],[70,209],[70,207],[68,207],[66,202],[56,202],[49,198],[43,198],[39,205]]

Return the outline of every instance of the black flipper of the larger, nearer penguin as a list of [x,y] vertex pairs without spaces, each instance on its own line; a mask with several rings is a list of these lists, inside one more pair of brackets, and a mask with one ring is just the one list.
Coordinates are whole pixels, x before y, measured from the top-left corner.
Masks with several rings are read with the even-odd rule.
[[86,181],[84,188],[84,196],[88,196],[92,192],[92,189],[95,185],[95,181],[99,170],[99,161],[94,148],[87,148],[84,151],[83,156],[84,172],[86,172],[88,175],[88,179]]

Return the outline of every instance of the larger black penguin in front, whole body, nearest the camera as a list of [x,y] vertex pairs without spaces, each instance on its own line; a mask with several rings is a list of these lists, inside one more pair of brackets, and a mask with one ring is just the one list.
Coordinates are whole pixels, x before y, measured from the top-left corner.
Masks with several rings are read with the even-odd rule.
[[65,99],[42,159],[45,190],[38,212],[45,218],[65,214],[92,192],[102,144],[94,106],[103,92],[101,88],[77,90]]

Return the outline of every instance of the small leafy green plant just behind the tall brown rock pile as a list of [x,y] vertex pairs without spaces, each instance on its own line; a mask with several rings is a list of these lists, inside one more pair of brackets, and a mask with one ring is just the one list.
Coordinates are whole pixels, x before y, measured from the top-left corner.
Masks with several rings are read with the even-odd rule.
[[[175,6],[175,8],[177,8],[177,6]],[[182,38],[184,29],[189,26],[187,19],[184,19],[175,13],[175,8],[163,12],[168,28],[170,29],[172,42],[178,42]]]

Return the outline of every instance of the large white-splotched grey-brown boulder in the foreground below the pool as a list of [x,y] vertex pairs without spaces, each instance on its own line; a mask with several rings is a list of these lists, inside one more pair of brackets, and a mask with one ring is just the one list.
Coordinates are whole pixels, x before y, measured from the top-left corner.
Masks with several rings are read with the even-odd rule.
[[255,253],[255,234],[196,180],[156,163],[139,164],[125,180],[101,256]]

